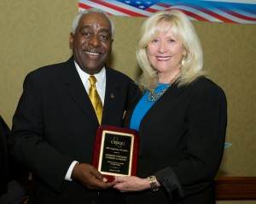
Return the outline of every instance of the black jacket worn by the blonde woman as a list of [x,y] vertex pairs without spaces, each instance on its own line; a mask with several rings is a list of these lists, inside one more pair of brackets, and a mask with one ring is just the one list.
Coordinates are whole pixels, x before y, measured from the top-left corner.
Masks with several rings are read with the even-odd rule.
[[[125,127],[130,127],[135,106],[126,113]],[[213,179],[224,151],[226,125],[226,97],[215,83],[201,77],[187,86],[173,84],[139,127],[137,175],[155,175],[165,188],[131,193],[126,203],[215,203]]]

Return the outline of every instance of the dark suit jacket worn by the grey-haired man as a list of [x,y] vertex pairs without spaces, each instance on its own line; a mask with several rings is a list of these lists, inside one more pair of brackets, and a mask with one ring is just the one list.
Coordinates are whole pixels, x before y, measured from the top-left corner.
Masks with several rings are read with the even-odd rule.
[[[102,124],[123,126],[135,89],[129,77],[106,67]],[[15,157],[33,173],[33,203],[119,203],[113,190],[86,190],[64,181],[72,161],[92,162],[97,127],[73,58],[27,75],[10,141]]]

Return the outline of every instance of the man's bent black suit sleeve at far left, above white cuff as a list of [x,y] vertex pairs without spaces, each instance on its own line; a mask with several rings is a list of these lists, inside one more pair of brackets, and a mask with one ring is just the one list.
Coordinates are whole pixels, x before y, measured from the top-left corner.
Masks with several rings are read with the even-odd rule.
[[10,137],[12,153],[33,176],[44,180],[54,190],[60,190],[72,159],[61,155],[44,140],[44,114],[41,90],[29,74],[13,118]]

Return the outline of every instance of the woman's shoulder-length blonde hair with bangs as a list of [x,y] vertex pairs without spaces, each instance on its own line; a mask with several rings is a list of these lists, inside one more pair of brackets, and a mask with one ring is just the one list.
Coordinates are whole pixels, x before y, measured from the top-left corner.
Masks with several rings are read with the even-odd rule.
[[197,77],[205,75],[202,71],[201,42],[189,18],[179,10],[161,11],[148,17],[141,28],[137,45],[137,62],[143,70],[143,74],[138,79],[138,85],[142,90],[155,87],[157,83],[157,71],[148,60],[147,46],[148,42],[160,35],[163,26],[165,32],[172,30],[173,37],[182,42],[186,50],[186,55],[181,62],[181,76],[177,80],[178,86],[187,85]]

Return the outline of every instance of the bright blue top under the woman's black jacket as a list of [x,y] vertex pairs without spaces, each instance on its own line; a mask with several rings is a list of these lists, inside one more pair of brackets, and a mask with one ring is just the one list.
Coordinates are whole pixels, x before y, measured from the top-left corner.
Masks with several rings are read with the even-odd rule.
[[[165,89],[167,87],[168,83],[158,83],[157,87],[155,88],[155,93],[160,93],[161,90]],[[143,116],[148,112],[148,110],[154,105],[156,100],[150,102],[148,101],[148,91],[143,95],[143,98],[140,99],[140,101],[137,103],[132,116],[131,116],[131,129],[136,129],[138,131],[140,127],[140,123],[143,120]]]

